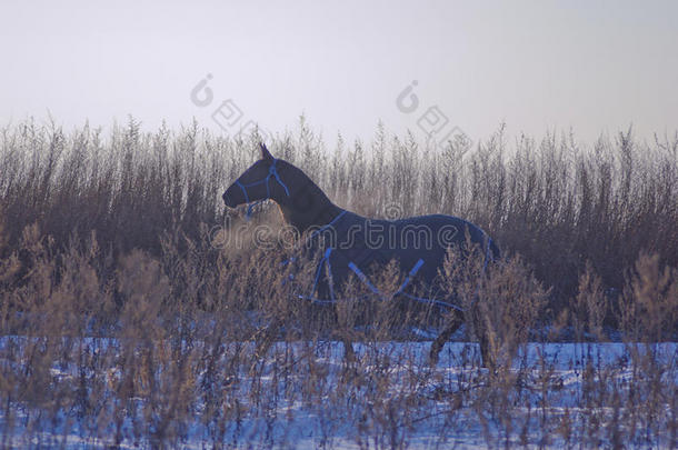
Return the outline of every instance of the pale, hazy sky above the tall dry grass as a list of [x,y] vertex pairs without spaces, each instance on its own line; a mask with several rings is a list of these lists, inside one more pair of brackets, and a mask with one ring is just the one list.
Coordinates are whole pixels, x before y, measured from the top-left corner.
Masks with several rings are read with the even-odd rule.
[[631,123],[646,139],[678,129],[678,1],[2,0],[0,54],[2,126],[132,114],[149,131],[196,117],[281,132],[306,113],[327,141],[351,141],[379,120],[418,132],[437,107],[476,141],[501,122],[589,143]]

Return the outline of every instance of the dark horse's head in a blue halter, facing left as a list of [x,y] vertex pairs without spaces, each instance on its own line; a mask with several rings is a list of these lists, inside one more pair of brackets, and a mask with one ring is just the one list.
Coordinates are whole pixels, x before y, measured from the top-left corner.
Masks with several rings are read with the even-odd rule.
[[261,159],[255,162],[223,192],[223,202],[229,208],[251,203],[258,200],[273,199],[280,203],[289,197],[289,188],[280,177],[283,163],[273,158],[263,143]]

